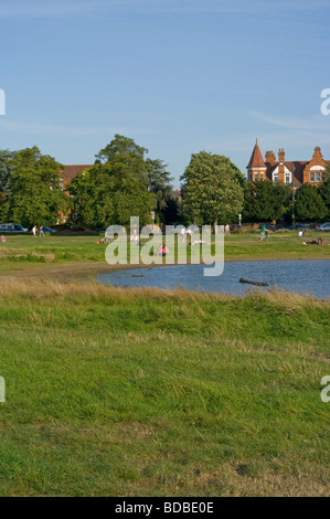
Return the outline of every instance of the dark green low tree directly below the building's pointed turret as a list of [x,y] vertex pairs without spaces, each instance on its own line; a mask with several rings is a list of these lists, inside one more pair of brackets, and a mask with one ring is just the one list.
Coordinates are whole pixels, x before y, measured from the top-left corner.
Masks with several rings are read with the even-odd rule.
[[291,188],[270,180],[258,180],[245,193],[243,218],[245,222],[281,220],[289,209]]

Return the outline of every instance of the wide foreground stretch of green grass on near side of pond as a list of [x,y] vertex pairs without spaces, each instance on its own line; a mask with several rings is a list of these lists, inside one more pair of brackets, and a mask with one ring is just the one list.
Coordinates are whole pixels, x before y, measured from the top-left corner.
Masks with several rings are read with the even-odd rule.
[[329,301],[3,278],[0,311],[1,496],[330,495]]

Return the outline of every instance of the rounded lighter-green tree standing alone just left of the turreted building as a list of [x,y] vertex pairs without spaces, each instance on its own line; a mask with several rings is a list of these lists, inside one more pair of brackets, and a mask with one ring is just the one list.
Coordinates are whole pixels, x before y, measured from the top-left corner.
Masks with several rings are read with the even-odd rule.
[[193,220],[216,225],[237,220],[244,201],[236,166],[206,151],[191,156],[183,180],[183,205]]

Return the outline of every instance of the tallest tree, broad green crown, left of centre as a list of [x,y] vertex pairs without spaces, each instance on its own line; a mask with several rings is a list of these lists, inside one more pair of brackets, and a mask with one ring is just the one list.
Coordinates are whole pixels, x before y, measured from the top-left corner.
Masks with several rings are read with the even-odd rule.
[[142,225],[149,223],[156,197],[149,192],[147,151],[132,139],[116,135],[97,153],[94,167],[70,184],[74,221],[92,229],[128,225],[130,216],[139,216]]

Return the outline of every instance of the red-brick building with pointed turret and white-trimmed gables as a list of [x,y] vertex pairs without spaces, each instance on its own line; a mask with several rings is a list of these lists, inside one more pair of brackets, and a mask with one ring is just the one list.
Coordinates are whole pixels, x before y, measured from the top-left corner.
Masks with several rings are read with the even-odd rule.
[[274,151],[266,151],[265,159],[262,156],[258,141],[254,147],[247,169],[247,182],[257,180],[272,180],[273,182],[283,182],[296,190],[304,183],[313,186],[320,184],[326,174],[330,160],[324,160],[321,148],[316,147],[311,160],[288,161],[285,158],[285,150],[278,150],[278,160]]

